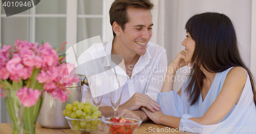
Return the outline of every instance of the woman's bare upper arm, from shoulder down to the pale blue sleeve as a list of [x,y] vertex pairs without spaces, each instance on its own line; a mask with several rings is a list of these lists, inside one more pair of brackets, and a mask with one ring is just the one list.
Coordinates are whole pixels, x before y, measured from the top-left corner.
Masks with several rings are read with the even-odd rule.
[[238,103],[247,80],[247,72],[242,67],[232,68],[225,79],[220,94],[210,108],[200,118],[190,118],[202,125],[217,124]]

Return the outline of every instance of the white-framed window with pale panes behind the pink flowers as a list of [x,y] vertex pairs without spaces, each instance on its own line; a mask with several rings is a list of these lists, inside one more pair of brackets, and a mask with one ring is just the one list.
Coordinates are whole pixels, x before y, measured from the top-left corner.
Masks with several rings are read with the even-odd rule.
[[[49,42],[52,47],[57,48],[65,41],[73,40],[72,43],[75,44],[97,35],[100,35],[103,41],[105,1],[42,0],[35,7],[9,17],[6,17],[2,4],[0,46],[13,46],[15,39],[20,39],[39,44],[42,41]],[[72,16],[76,16],[76,19],[69,20]],[[73,31],[68,33],[70,30]],[[65,50],[62,53],[65,53]],[[0,123],[10,123],[4,99],[1,98],[0,102]]]

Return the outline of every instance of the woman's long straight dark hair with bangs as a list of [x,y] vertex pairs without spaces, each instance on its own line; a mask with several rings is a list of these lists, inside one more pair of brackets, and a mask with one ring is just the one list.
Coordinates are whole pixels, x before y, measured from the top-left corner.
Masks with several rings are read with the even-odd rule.
[[[236,32],[231,20],[220,13],[202,13],[191,17],[185,26],[196,47],[191,61],[195,64],[189,73],[190,83],[186,88],[190,105],[196,104],[202,91],[204,73],[200,66],[209,72],[223,72],[230,67],[240,66],[249,74],[254,103],[256,92],[250,70],[244,65],[237,43]],[[194,85],[194,86],[193,86]]]

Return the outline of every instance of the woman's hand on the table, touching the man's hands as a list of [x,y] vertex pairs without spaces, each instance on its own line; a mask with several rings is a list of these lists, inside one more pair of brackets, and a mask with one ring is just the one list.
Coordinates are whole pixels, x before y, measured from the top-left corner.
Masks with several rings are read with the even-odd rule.
[[161,124],[160,118],[162,116],[164,116],[164,114],[162,113],[161,110],[155,111],[155,112],[151,112],[150,110],[148,110],[145,107],[141,107],[140,109],[143,110],[146,113],[147,117],[150,118],[152,121],[154,121],[157,124]]

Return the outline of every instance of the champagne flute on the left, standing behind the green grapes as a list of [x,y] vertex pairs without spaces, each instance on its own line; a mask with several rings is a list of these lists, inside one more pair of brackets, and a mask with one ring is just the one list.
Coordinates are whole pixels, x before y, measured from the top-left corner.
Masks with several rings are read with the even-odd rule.
[[88,79],[93,104],[99,108],[104,92],[105,75],[96,74]]

